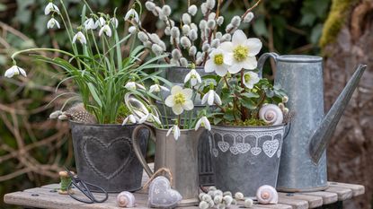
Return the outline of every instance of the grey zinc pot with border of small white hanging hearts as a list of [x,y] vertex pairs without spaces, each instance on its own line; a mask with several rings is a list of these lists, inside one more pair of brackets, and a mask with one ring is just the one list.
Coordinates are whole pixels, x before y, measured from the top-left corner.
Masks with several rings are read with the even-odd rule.
[[255,196],[262,185],[276,187],[285,125],[212,126],[211,154],[216,186]]

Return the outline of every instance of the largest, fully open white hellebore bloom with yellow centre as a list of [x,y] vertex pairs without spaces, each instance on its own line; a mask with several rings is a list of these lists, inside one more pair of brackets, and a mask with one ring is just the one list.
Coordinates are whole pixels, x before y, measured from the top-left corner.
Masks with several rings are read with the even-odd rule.
[[243,68],[256,68],[258,63],[255,56],[262,48],[262,41],[256,38],[247,39],[243,30],[236,30],[232,42],[224,42],[220,47],[225,51],[224,63],[229,65],[229,73],[236,74]]

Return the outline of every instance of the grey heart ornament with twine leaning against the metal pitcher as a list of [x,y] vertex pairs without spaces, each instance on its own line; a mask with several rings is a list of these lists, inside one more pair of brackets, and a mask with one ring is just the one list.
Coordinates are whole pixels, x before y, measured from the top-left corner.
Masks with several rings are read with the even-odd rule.
[[150,207],[174,208],[180,201],[182,201],[182,195],[171,188],[167,178],[157,177],[150,183],[147,201]]

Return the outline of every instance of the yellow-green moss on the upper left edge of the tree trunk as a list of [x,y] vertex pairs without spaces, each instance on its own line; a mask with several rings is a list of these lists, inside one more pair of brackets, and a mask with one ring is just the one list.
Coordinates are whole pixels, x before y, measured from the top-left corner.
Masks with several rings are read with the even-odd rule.
[[335,41],[343,24],[347,20],[352,5],[358,2],[359,0],[333,0],[331,11],[324,23],[323,35],[319,43],[321,48]]

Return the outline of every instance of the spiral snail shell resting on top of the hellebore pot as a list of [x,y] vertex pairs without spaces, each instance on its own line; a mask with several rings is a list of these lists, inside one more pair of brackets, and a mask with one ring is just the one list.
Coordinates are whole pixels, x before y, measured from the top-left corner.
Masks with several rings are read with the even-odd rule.
[[259,110],[259,118],[269,125],[280,125],[283,121],[284,115],[277,105],[267,104],[262,106]]

